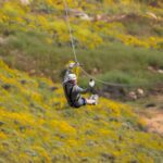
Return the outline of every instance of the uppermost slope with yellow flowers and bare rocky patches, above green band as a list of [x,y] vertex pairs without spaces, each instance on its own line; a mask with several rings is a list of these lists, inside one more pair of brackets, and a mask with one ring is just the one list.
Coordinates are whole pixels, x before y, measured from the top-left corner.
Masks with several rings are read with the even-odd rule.
[[[21,0],[23,1],[23,0]],[[95,48],[105,41],[162,49],[162,1],[63,1],[36,0],[27,5],[18,0],[1,2],[1,30],[4,35],[35,30],[47,35],[46,41],[70,41],[65,9],[70,13],[77,47]],[[65,1],[66,2],[66,1]]]

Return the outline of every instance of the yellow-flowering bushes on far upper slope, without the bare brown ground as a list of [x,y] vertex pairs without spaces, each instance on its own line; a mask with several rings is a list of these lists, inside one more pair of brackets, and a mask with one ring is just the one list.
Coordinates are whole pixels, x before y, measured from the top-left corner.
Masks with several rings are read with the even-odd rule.
[[[76,8],[78,11],[83,12],[82,8],[87,10],[97,10],[100,5],[97,3],[97,7],[91,2],[77,2],[70,0],[70,8]],[[137,3],[126,0],[121,2],[124,8],[128,8],[129,4],[133,4],[133,8],[138,7]],[[55,13],[33,13],[30,9],[32,5],[48,5],[52,8]],[[65,15],[63,15],[64,4],[63,2],[58,2],[53,0],[45,1],[33,1],[32,5],[21,5],[16,1],[9,1],[2,4],[2,11],[0,11],[0,22],[8,26],[11,30],[36,30],[48,33],[53,39],[53,41],[65,45],[70,42],[68,27],[66,24]],[[113,5],[115,2],[112,0],[103,1],[103,5]],[[117,7],[118,8],[118,7]],[[150,9],[151,10],[151,9]],[[138,12],[138,11],[137,11]],[[64,17],[64,18],[63,18]],[[146,18],[146,16],[143,16]],[[71,26],[75,37],[75,42],[79,47],[86,48],[97,48],[105,43],[108,38],[114,40],[121,40],[125,45],[145,47],[145,48],[155,48],[162,49],[162,38],[159,36],[149,36],[149,38],[138,38],[137,36],[130,36],[126,33],[125,25],[118,22],[106,23],[105,21],[83,21],[77,17],[70,16]],[[129,26],[129,24],[128,24]],[[50,43],[52,40],[48,40]]]

